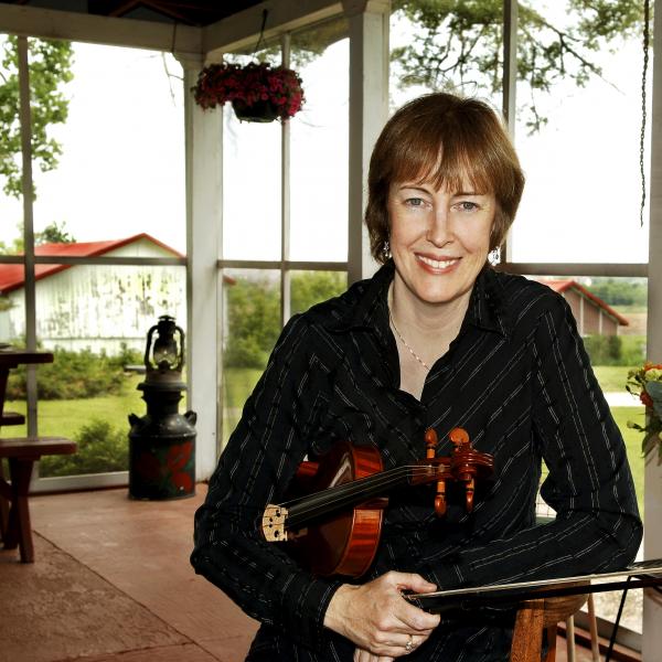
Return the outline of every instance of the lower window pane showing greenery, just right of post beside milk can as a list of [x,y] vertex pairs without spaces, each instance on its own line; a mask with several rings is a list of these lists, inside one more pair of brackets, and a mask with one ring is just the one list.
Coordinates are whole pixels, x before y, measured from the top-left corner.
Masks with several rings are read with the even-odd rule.
[[267,365],[280,333],[280,274],[223,273],[223,442]]

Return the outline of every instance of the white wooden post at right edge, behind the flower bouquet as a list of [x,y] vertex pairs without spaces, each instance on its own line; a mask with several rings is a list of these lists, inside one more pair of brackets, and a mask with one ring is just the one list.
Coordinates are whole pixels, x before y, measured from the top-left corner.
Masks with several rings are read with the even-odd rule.
[[[662,34],[662,11],[654,12],[654,34]],[[651,200],[649,234],[648,342],[649,361],[662,363],[662,54],[653,55],[653,104],[651,124]],[[662,557],[662,467],[655,458],[647,461],[643,499],[645,528],[644,558]],[[662,651],[662,599],[652,589],[644,590],[644,662],[656,662]]]

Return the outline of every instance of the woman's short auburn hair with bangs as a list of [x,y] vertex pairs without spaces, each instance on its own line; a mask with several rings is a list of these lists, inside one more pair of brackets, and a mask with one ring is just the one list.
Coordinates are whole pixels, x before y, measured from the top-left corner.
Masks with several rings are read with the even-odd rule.
[[515,218],[524,173],[501,119],[488,104],[438,92],[397,110],[373,149],[365,224],[372,255],[381,264],[389,235],[388,194],[402,182],[430,182],[450,191],[461,191],[469,182],[477,192],[492,193],[492,250]]

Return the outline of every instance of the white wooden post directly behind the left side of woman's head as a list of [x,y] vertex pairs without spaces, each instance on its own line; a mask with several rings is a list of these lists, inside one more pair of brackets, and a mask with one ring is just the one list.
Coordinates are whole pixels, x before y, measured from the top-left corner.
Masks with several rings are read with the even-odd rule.
[[376,264],[363,224],[367,169],[388,117],[389,0],[343,0],[350,23],[350,169],[348,280],[370,277]]

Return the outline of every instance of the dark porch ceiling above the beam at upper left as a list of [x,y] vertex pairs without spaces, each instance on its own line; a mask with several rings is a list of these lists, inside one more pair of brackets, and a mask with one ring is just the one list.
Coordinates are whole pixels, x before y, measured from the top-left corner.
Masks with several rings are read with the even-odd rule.
[[178,23],[204,28],[259,4],[260,0],[0,0],[39,9],[62,10],[88,15]]

